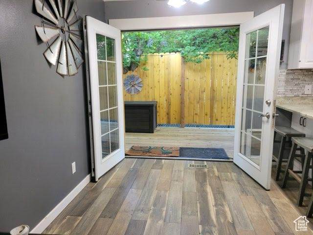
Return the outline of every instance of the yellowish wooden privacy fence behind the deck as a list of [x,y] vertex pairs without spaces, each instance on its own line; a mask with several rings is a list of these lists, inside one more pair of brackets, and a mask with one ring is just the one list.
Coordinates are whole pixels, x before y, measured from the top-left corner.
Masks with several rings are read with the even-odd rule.
[[180,53],[148,54],[147,62],[123,79],[130,74],[138,75],[143,87],[134,95],[124,90],[124,100],[156,100],[158,124],[234,125],[237,59],[225,53],[213,52],[200,64],[183,62]]

